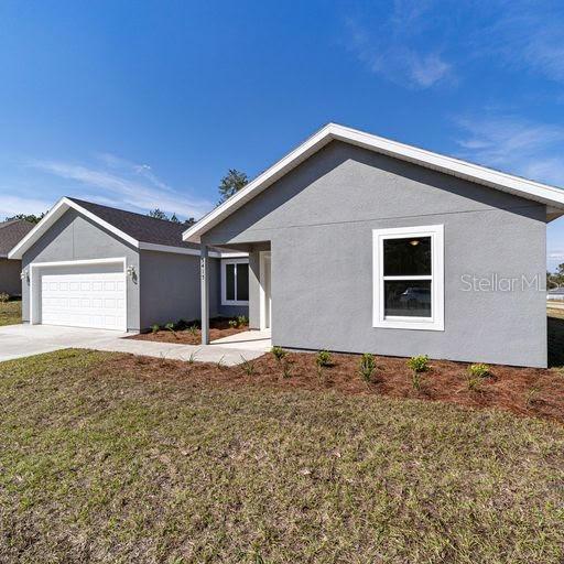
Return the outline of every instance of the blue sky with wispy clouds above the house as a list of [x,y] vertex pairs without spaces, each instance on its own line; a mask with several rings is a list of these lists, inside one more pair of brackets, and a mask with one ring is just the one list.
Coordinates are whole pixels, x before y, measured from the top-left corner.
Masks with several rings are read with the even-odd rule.
[[564,186],[564,2],[0,3],[0,218],[200,216],[327,121]]

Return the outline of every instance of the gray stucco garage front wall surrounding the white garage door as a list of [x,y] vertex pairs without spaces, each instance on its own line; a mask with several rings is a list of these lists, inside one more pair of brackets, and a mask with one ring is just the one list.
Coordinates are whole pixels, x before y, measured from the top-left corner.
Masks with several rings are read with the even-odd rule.
[[[139,272],[139,252],[109,231],[69,209],[24,253],[22,267],[31,262],[112,259],[126,257],[127,265]],[[139,330],[139,280],[128,276],[128,329]],[[22,284],[22,319],[30,321],[30,285]]]

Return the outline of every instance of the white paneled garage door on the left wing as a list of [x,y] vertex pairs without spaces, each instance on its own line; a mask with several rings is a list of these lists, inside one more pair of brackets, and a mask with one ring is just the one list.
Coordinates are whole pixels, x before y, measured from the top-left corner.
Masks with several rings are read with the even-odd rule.
[[122,263],[48,267],[39,273],[40,323],[126,329]]

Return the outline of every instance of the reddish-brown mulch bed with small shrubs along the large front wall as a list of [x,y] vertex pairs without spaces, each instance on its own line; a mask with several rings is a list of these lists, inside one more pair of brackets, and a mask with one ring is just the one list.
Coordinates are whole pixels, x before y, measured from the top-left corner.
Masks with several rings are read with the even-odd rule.
[[282,361],[267,354],[247,365],[230,368],[133,356],[120,356],[109,360],[117,365],[116,373],[121,369],[131,369],[142,378],[180,379],[192,383],[199,381],[203,384],[234,387],[251,384],[280,390],[332,390],[346,394],[381,394],[445,401],[564,423],[562,370],[491,366],[492,376],[480,379],[478,389],[469,389],[467,364],[431,360],[431,369],[422,375],[421,389],[416,390],[405,358],[377,357],[377,370],[370,383],[361,379],[359,361],[360,357],[357,355],[333,355],[333,366],[319,370],[315,355],[307,352],[289,352]]

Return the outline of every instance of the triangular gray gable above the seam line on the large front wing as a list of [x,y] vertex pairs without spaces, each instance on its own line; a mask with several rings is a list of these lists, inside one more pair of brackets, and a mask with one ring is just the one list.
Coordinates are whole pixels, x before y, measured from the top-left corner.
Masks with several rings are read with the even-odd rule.
[[[415,164],[333,141],[203,236],[269,240],[271,230],[544,206]],[[262,235],[262,239],[261,239]]]

